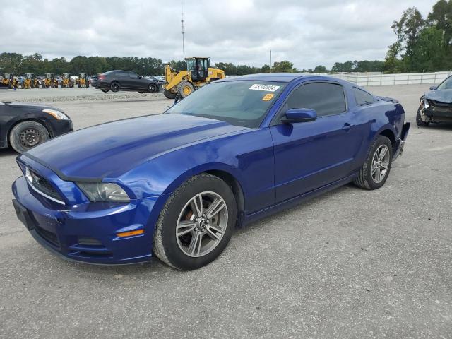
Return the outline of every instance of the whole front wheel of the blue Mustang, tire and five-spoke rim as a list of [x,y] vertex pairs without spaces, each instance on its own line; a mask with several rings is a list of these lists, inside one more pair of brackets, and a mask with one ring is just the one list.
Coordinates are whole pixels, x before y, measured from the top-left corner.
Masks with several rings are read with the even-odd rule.
[[196,175],[168,198],[154,232],[153,251],[174,268],[200,268],[225,249],[236,220],[230,186],[210,174]]

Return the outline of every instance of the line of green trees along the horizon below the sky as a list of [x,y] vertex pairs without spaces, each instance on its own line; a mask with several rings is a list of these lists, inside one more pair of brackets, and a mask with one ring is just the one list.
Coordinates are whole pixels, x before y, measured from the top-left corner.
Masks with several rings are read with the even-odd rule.
[[[319,65],[314,69],[296,69],[292,62],[276,61],[262,67],[217,62],[218,69],[230,76],[268,72],[338,73],[338,72],[384,72],[414,73],[446,71],[452,69],[452,0],[439,0],[427,18],[415,7],[407,8],[400,20],[391,25],[396,42],[388,46],[384,61],[363,60],[336,62],[332,69]],[[67,61],[64,57],[52,60],[41,54],[0,54],[0,72],[21,75],[24,73],[103,73],[112,69],[125,69],[141,75],[162,75],[165,72],[162,59],[153,57],[84,57]],[[169,61],[177,71],[186,69],[183,60]]]

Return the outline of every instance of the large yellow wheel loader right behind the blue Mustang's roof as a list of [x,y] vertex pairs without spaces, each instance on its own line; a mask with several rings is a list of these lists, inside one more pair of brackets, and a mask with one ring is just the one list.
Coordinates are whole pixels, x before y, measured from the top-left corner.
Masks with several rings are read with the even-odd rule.
[[206,57],[186,58],[186,71],[177,73],[169,65],[165,66],[165,85],[163,94],[168,99],[177,95],[184,98],[206,83],[225,78],[225,71],[210,67]]

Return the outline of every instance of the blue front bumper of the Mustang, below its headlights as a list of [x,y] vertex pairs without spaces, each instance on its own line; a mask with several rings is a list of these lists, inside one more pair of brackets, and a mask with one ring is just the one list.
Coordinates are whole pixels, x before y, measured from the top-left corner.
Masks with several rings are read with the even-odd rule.
[[[157,197],[130,203],[61,206],[30,189],[25,177],[13,183],[13,194],[18,219],[32,237],[64,258],[97,264],[137,263],[151,258],[158,218],[152,211],[157,207]],[[143,234],[117,236],[141,229]]]

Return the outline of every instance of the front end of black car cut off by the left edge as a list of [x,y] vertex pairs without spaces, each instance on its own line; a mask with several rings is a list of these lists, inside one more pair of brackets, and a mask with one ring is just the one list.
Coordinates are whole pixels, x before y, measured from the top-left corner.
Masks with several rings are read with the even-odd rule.
[[71,118],[55,107],[0,102],[0,148],[23,153],[49,138],[73,131]]

